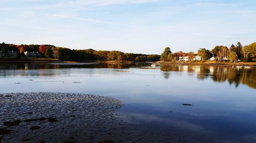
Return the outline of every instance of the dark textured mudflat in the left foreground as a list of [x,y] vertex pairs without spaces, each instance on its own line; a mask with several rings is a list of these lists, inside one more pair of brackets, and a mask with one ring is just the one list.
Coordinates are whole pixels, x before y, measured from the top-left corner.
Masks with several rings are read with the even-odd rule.
[[[0,94],[0,142],[187,142],[119,118],[122,102],[72,93]],[[186,141],[184,141],[186,140]],[[189,140],[191,141],[191,140]]]

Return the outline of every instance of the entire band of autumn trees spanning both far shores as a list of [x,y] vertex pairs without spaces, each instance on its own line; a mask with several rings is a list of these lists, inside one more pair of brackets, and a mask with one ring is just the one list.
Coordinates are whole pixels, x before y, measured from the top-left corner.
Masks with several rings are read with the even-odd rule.
[[172,53],[169,47],[166,47],[161,55],[158,54],[141,54],[141,53],[124,53],[121,51],[109,50],[94,50],[94,49],[69,49],[65,47],[56,47],[54,45],[15,45],[0,43],[0,51],[5,53],[7,51],[16,51],[19,57],[23,57],[24,52],[38,52],[43,57],[55,58],[61,60],[72,61],[137,61],[137,62],[156,62],[156,61],[178,61],[181,56],[188,56],[189,60],[195,58],[196,55],[201,56],[203,61],[209,60],[212,56],[218,61],[256,61],[256,42],[243,46],[240,42],[237,45],[232,44],[229,48],[227,46],[215,46],[214,49],[208,50],[200,48],[197,53],[190,52],[175,52]]

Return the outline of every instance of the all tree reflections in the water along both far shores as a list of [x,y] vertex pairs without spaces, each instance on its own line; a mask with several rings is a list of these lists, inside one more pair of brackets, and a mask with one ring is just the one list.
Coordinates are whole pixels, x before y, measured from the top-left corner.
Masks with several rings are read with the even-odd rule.
[[[90,64],[90,65],[76,65],[76,64],[47,64],[47,63],[2,63],[0,64],[0,77],[6,76],[55,76],[62,74],[61,69],[69,68],[108,68],[108,69],[129,69],[148,67],[148,63],[136,64]],[[50,71],[49,71],[50,69]],[[53,70],[56,69],[56,70]],[[225,66],[191,66],[191,65],[160,65],[160,70],[164,71],[163,77],[170,78],[169,71],[187,72],[189,75],[197,74],[199,80],[211,78],[216,82],[228,81],[229,84],[234,84],[236,87],[239,84],[245,84],[256,89],[256,69],[232,68]]]

